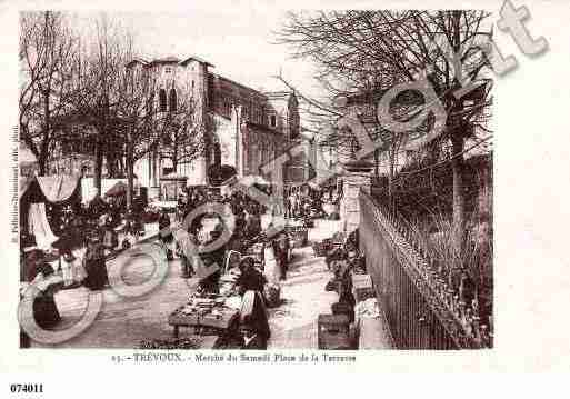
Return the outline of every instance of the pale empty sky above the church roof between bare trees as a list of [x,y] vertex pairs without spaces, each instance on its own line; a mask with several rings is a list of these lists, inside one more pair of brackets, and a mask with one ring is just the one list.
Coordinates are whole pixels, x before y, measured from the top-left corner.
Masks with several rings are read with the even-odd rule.
[[[284,11],[271,8],[190,9],[182,12],[110,12],[113,20],[136,36],[143,58],[198,56],[212,63],[214,73],[253,89],[283,90],[273,76],[283,78],[303,93],[320,96],[314,66],[291,58],[291,49],[274,43],[273,31]],[[80,14],[86,24],[97,13]]]

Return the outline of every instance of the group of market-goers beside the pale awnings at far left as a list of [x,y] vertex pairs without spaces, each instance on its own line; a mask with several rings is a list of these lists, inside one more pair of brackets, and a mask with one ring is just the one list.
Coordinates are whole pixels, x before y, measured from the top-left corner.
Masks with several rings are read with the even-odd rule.
[[[60,315],[53,296],[61,289],[84,286],[101,290],[109,285],[106,259],[143,230],[143,201],[137,198],[127,210],[124,197],[96,196],[89,203],[49,205],[48,220],[57,235],[51,248],[40,249],[26,229],[20,237],[20,281],[22,295],[29,285],[58,276],[33,300],[38,326],[54,327]],[[122,242],[119,241],[122,237]],[[129,240],[129,238],[131,238]],[[51,281],[51,280],[50,280]],[[36,285],[37,286],[37,285]]]

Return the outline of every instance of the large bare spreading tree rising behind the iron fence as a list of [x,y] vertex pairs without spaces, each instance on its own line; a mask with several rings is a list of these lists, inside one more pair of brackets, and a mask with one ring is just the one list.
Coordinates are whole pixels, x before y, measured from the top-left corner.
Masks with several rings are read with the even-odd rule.
[[[482,40],[491,34],[488,18],[484,11],[471,10],[299,12],[289,13],[278,32],[279,42],[291,44],[297,57],[317,61],[321,81],[330,88],[338,87],[338,80],[344,82],[337,93],[367,84],[386,90],[426,73],[447,112],[444,138],[452,147],[453,241],[458,248],[466,231],[464,144],[487,131],[492,100]],[[454,96],[469,81],[478,88]]]

